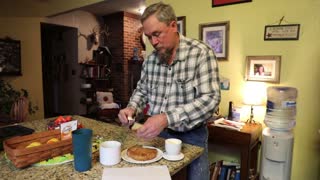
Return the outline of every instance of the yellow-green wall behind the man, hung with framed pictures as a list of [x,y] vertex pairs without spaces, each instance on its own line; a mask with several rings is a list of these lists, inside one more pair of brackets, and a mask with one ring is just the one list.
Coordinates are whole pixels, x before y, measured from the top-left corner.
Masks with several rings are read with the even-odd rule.
[[[158,2],[148,0],[147,3]],[[292,180],[318,179],[320,169],[319,133],[320,107],[320,2],[314,0],[254,0],[250,3],[211,7],[211,1],[165,0],[186,16],[187,36],[199,38],[199,24],[230,21],[229,60],[219,62],[220,74],[230,79],[231,89],[222,91],[221,110],[226,114],[228,102],[242,105],[245,86],[245,57],[248,55],[281,55],[281,82],[278,86],[293,86],[299,91],[297,125],[294,128]],[[298,41],[264,41],[264,26],[301,25]],[[270,86],[273,84],[265,84]],[[255,112],[263,122],[264,111]],[[260,113],[260,114],[259,114]]]

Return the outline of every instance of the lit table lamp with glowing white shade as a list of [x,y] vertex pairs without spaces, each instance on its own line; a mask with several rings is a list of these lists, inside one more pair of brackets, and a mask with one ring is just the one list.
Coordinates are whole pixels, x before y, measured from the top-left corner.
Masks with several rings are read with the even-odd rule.
[[255,123],[253,106],[263,105],[266,97],[266,88],[261,84],[246,84],[243,94],[243,104],[250,106],[250,117],[246,123]]

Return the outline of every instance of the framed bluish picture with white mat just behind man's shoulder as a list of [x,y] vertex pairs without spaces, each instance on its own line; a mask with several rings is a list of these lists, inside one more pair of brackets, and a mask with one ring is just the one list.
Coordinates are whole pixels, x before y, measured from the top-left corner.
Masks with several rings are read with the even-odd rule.
[[229,21],[200,24],[199,39],[213,49],[218,60],[228,60]]

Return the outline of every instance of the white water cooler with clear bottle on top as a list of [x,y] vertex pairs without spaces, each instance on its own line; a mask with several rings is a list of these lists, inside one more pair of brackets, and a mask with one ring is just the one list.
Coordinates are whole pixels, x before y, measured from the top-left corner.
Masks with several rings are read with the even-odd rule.
[[267,96],[260,180],[290,180],[297,89],[271,86]]

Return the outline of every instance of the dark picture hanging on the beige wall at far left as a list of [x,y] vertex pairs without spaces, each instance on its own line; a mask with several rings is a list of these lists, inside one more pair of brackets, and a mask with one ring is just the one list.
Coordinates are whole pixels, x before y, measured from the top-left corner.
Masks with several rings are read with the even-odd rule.
[[21,76],[21,44],[12,39],[0,39],[0,76]]

